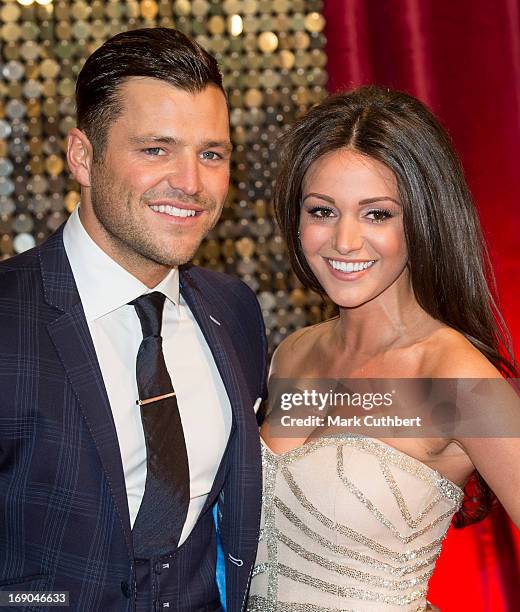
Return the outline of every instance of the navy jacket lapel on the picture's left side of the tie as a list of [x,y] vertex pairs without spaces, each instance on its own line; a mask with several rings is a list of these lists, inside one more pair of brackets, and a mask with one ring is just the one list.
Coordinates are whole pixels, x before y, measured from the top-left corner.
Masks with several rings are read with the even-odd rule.
[[105,471],[130,556],[132,535],[123,466],[105,384],[63,246],[62,229],[40,248],[45,301],[61,314],[47,326]]

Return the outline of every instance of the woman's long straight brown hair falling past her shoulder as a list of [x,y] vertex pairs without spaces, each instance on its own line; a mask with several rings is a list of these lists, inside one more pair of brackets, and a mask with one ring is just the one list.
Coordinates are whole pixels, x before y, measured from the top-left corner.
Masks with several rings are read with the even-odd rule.
[[[396,176],[419,305],[462,333],[504,376],[516,377],[511,339],[493,297],[493,270],[462,167],[444,128],[408,94],[368,86],[331,96],[284,136],[274,205],[300,281],[323,294],[298,238],[303,179],[314,161],[344,148],[385,164]],[[455,525],[483,519],[493,500],[475,472]]]

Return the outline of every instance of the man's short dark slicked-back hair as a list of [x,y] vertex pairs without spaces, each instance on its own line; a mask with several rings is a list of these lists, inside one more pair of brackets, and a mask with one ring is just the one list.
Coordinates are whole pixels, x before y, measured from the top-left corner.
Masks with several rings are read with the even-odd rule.
[[96,156],[122,110],[120,87],[131,77],[161,79],[191,93],[208,85],[223,91],[216,59],[182,32],[142,28],[113,36],[87,59],[76,83],[78,127]]

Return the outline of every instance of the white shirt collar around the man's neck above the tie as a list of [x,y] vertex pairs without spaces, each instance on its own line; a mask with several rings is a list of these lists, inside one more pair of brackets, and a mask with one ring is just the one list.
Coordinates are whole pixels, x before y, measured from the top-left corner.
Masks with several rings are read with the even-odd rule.
[[65,225],[63,243],[87,321],[98,319],[152,291],[161,291],[179,306],[179,270],[172,268],[156,287],[150,289],[92,240],[81,223],[79,206]]

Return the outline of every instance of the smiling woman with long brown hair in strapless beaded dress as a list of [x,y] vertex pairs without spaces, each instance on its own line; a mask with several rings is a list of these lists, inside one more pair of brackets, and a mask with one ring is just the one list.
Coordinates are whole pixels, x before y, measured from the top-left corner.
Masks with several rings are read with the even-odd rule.
[[[314,107],[285,136],[275,208],[296,275],[339,314],[278,347],[271,383],[486,379],[511,390],[475,207],[422,103],[364,87]],[[486,401],[491,419],[493,394]],[[317,421],[282,436],[276,408],[261,428],[250,612],[435,609],[428,582],[453,517],[483,518],[492,489],[520,524],[518,437],[320,435]]]

